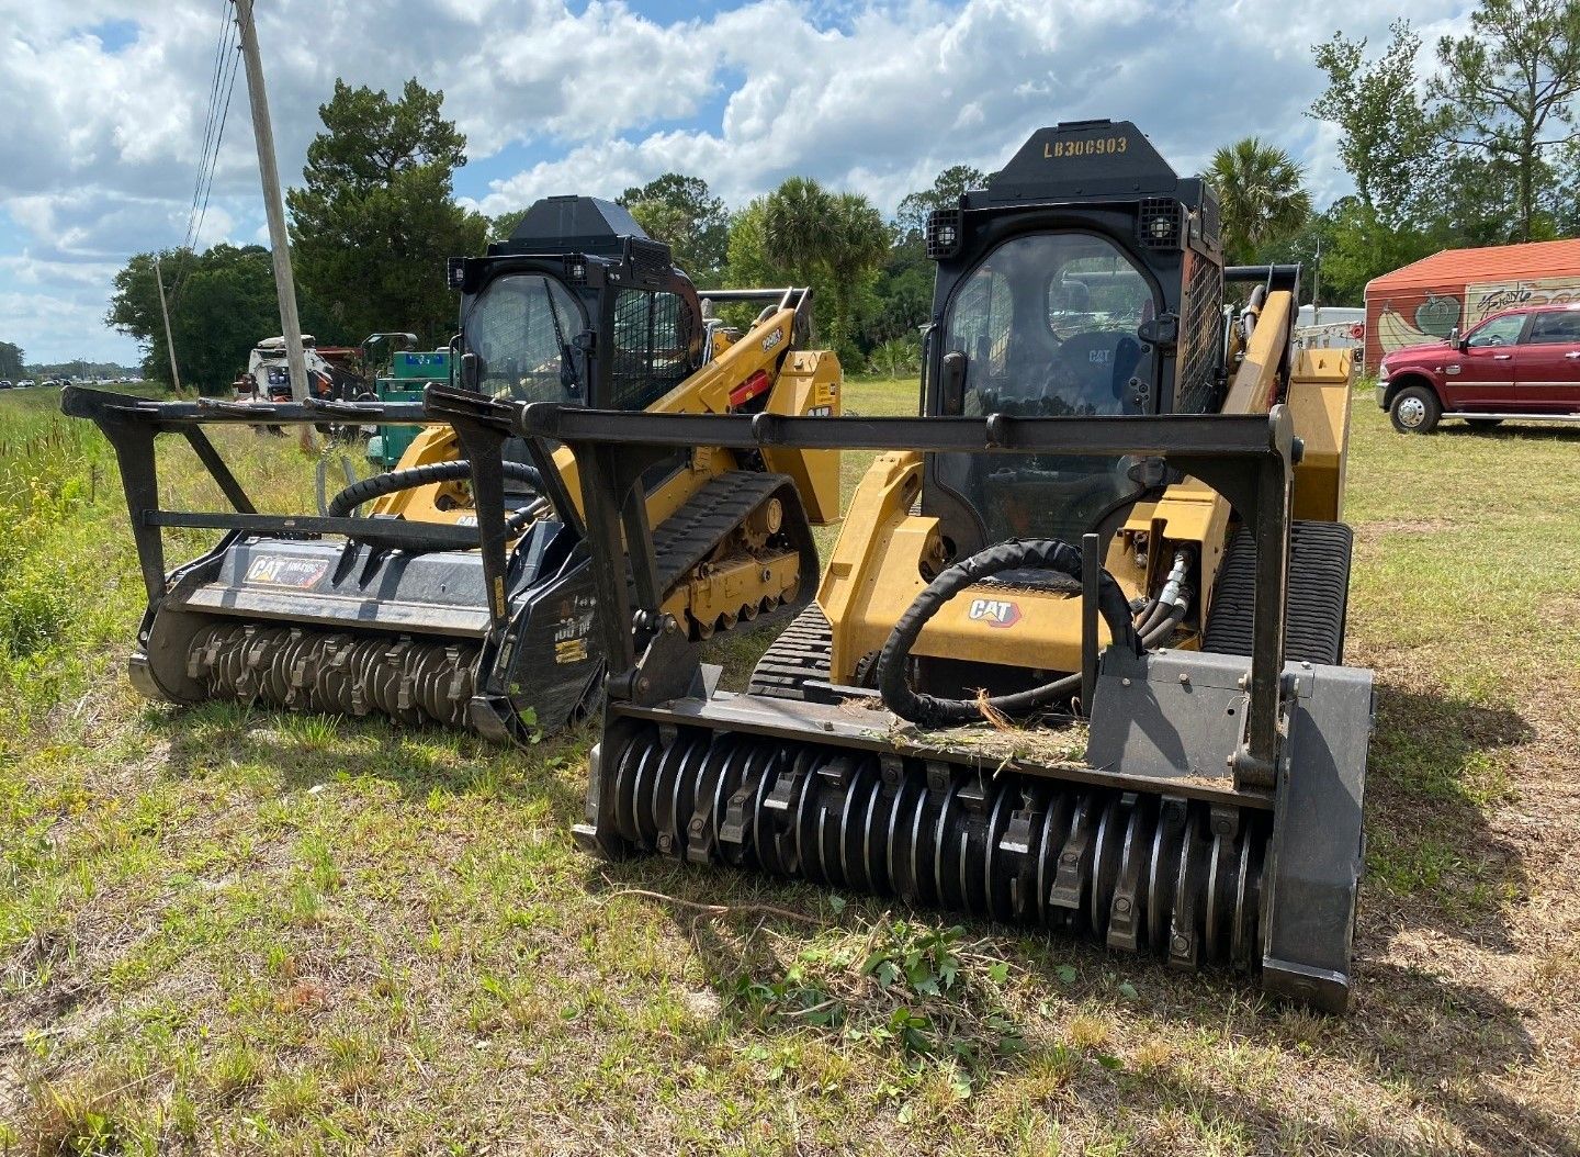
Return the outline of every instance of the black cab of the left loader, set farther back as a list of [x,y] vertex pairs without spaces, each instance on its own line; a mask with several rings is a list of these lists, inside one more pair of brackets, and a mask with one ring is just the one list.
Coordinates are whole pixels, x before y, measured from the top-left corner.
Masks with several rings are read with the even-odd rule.
[[545,198],[482,258],[452,258],[460,376],[512,401],[646,409],[703,362],[697,291],[619,205]]

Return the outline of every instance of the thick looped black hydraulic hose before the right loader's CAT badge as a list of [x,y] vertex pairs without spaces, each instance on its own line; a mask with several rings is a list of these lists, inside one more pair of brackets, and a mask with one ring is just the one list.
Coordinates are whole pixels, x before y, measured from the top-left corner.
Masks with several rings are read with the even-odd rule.
[[[1059,539],[1032,539],[1027,542],[1010,539],[946,567],[937,578],[927,583],[927,588],[899,616],[894,631],[890,632],[888,642],[883,643],[883,651],[878,654],[878,694],[883,695],[883,705],[890,711],[921,727],[957,727],[980,722],[984,710],[1008,719],[1022,718],[1070,694],[1068,676],[1032,688],[1030,691],[989,695],[986,700],[929,695],[915,691],[907,680],[910,650],[921,635],[921,629],[943,609],[943,604],[983,578],[1019,569],[1054,571],[1079,580],[1081,552]],[[1119,583],[1114,582],[1114,575],[1108,571],[1103,571],[1098,577],[1097,601],[1098,613],[1108,623],[1114,645],[1139,650],[1139,639],[1130,615],[1130,602],[1125,599],[1123,591],[1119,590]],[[1079,684],[1079,675],[1074,678],[1076,684]]]

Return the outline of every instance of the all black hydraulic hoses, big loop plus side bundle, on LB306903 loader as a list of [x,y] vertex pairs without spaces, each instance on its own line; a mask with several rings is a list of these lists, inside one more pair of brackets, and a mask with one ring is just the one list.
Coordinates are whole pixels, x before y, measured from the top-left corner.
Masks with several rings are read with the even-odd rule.
[[[1163,590],[1136,612],[1141,615],[1139,624],[1131,616],[1130,602],[1125,601],[1119,583],[1108,571],[1101,572],[1098,613],[1108,623],[1114,645],[1128,646],[1139,653],[1157,646],[1174,634],[1190,605],[1191,593],[1185,583],[1190,563],[1191,560],[1183,550],[1174,555],[1174,566]],[[989,711],[1008,719],[1024,718],[1081,691],[1081,672],[1063,675],[1030,691],[984,699],[940,699],[916,692],[910,686],[907,678],[910,648],[921,635],[927,620],[937,615],[945,602],[978,580],[1022,567],[1054,571],[1079,580],[1081,552],[1057,539],[1029,542],[1011,539],[945,569],[901,615],[888,642],[883,643],[877,683],[888,710],[923,727],[959,727],[981,722]]]

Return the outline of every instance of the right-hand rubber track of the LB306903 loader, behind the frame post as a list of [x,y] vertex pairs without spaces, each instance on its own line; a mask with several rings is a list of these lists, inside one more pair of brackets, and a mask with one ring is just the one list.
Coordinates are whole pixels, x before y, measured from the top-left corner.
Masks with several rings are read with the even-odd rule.
[[[1296,522],[1289,528],[1289,610],[1285,621],[1288,662],[1345,661],[1345,615],[1349,604],[1349,556],[1354,533],[1340,522]],[[1251,607],[1256,594],[1256,542],[1242,528],[1229,541],[1218,567],[1204,651],[1251,653]]]

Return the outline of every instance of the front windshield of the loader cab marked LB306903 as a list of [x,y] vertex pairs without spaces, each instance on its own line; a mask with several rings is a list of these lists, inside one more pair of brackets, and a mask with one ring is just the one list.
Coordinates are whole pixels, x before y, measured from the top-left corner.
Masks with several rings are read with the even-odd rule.
[[[1087,417],[1150,409],[1152,359],[1136,327],[1157,313],[1152,281],[1087,232],[1013,237],[965,278],[943,322],[965,354],[964,413]],[[1122,458],[940,454],[935,477],[976,511],[989,542],[1078,541],[1136,484]]]

